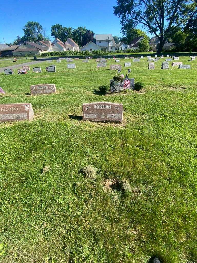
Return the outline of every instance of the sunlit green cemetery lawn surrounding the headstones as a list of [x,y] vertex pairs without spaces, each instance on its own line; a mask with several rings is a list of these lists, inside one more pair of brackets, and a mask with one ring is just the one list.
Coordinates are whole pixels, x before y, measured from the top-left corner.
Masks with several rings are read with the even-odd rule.
[[[76,69],[54,60],[39,74],[0,73],[0,103],[29,102],[35,114],[0,124],[1,262],[196,262],[197,60],[180,57],[190,70],[161,70],[162,61],[97,70],[95,59],[74,60]],[[125,75],[125,62],[146,87],[99,94],[115,75],[109,65]],[[31,96],[43,83],[57,93]],[[122,124],[82,121],[82,104],[101,101],[123,103]],[[129,184],[108,190],[107,179]]]

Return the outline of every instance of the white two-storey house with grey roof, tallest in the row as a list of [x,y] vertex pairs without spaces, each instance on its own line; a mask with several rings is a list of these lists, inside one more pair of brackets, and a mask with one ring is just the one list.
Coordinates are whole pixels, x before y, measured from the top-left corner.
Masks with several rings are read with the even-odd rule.
[[115,51],[116,44],[112,34],[96,34],[95,35],[96,44],[101,48],[101,50],[105,51]]

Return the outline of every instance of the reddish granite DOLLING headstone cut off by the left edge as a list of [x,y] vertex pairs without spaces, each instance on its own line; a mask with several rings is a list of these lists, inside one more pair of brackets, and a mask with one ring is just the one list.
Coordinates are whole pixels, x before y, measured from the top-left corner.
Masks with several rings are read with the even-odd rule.
[[33,120],[31,103],[0,104],[0,122],[14,120]]

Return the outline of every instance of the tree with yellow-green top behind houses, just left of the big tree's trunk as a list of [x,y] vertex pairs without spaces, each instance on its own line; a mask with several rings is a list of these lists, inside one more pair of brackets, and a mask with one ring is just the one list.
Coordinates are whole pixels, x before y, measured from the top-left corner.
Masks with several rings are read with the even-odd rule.
[[125,26],[123,26],[121,28],[121,32],[123,33],[123,37],[122,37],[121,41],[123,41],[126,44],[131,44],[131,41],[135,37],[143,36],[148,41],[150,40],[150,38],[147,36],[146,32],[144,32],[138,28],[131,28],[130,24],[126,24]]

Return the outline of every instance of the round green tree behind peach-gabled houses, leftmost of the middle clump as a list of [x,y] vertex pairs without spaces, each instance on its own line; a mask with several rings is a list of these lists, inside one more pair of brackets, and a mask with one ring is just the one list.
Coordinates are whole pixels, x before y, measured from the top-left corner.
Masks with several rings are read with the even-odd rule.
[[72,27],[63,27],[60,24],[51,26],[51,36],[60,39],[63,43],[65,43],[68,38],[72,38],[72,31]]

